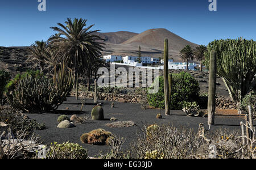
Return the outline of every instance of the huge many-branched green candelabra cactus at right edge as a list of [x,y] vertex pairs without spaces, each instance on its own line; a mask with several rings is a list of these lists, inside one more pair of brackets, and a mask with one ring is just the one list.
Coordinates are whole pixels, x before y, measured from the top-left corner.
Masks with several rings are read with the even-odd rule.
[[[207,46],[217,52],[217,74],[224,79],[229,95],[238,108],[243,97],[256,84],[256,41],[215,40]],[[204,65],[209,69],[210,53],[205,53]]]

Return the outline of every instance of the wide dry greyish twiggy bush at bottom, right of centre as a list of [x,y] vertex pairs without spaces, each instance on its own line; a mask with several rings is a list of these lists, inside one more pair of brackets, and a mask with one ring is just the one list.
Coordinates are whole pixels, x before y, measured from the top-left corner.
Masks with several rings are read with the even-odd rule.
[[134,158],[143,159],[146,152],[158,151],[166,159],[189,158],[193,155],[204,141],[195,138],[196,134],[192,130],[185,128],[175,128],[168,125],[159,125],[158,128],[151,129],[147,134],[147,125],[142,129],[142,134],[138,134],[137,141],[134,141],[131,152]]

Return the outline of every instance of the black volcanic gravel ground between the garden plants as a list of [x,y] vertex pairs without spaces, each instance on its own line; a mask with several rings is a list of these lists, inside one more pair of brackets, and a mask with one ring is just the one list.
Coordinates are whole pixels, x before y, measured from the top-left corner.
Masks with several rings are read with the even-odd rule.
[[[182,111],[171,111],[171,116],[165,116],[164,110],[160,109],[146,109],[142,110],[139,104],[133,103],[117,103],[115,102],[115,108],[111,108],[112,101],[100,100],[104,109],[104,121],[86,120],[85,124],[76,124],[75,128],[60,129],[57,128],[57,118],[61,114],[66,114],[69,117],[72,114],[78,116],[90,116],[90,111],[94,107],[93,100],[86,100],[86,105],[83,108],[83,112],[80,113],[81,103],[80,100],[76,100],[75,97],[68,97],[67,101],[60,105],[57,113],[44,113],[44,114],[27,114],[30,118],[35,118],[38,122],[45,122],[47,129],[36,130],[35,134],[41,137],[41,141],[44,145],[51,142],[63,143],[70,141],[72,143],[79,143],[88,149],[89,156],[94,156],[99,151],[105,152],[109,150],[109,146],[93,146],[83,144],[80,142],[80,136],[83,133],[87,133],[91,130],[103,128],[112,132],[115,135],[126,138],[123,148],[129,148],[130,143],[137,138],[137,132],[147,124],[168,124],[174,126],[184,126],[186,128],[192,128],[195,131],[200,123],[207,125],[207,118],[200,117],[188,117]],[[69,109],[67,109],[69,108]],[[156,114],[162,113],[163,118],[156,118]],[[113,122],[109,119],[115,117],[118,121],[134,121],[138,126],[132,126],[129,128],[109,128],[105,124]],[[216,116],[216,125],[212,126],[212,130],[219,128],[228,129],[240,129],[240,122],[244,121],[243,117],[237,116]],[[255,121],[254,121],[255,124]]]

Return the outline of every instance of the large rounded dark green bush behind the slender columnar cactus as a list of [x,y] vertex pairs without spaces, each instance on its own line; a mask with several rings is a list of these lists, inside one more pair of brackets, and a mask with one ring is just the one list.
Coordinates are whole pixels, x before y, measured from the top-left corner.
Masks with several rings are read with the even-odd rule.
[[[163,76],[159,76],[159,91],[156,94],[147,94],[148,104],[155,108],[164,109]],[[181,109],[182,101],[196,101],[199,97],[199,82],[184,71],[172,74],[171,109]]]

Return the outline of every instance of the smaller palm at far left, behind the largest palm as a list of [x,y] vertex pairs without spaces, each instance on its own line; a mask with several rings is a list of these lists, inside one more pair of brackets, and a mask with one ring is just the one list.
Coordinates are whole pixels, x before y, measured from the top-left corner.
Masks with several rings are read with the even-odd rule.
[[47,51],[48,42],[46,41],[35,41],[30,47],[27,48],[28,61],[36,61],[37,65],[40,66],[40,72],[44,70],[45,54]]

